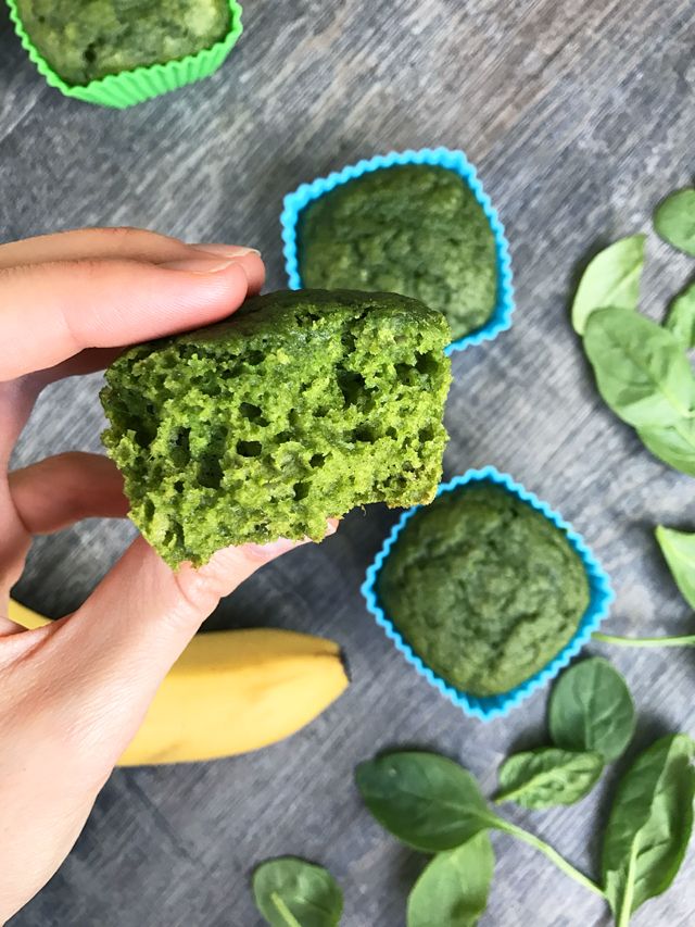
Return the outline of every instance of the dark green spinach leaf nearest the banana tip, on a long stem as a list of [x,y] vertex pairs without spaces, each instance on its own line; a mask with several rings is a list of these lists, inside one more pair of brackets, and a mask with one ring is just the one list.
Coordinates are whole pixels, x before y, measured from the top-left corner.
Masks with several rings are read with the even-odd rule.
[[379,824],[426,853],[460,847],[496,824],[476,778],[437,753],[386,753],[361,763],[355,778]]

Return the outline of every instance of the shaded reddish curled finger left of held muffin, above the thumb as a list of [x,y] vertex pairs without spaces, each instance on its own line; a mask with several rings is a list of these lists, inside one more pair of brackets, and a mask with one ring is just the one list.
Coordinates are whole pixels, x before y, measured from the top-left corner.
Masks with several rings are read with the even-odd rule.
[[124,518],[129,509],[115,464],[77,451],[15,469],[10,494],[30,535],[59,531],[81,518]]

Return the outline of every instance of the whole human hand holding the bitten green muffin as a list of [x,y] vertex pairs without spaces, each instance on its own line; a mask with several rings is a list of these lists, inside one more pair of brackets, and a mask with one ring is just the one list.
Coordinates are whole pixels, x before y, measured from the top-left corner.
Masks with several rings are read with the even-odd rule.
[[123,517],[105,458],[68,453],[8,473],[40,390],[125,345],[215,322],[264,280],[250,249],[86,229],[0,246],[0,923],[53,875],[160,682],[220,597],[290,541],[219,551],[173,573],[139,538],[71,616],[10,622],[33,535]]

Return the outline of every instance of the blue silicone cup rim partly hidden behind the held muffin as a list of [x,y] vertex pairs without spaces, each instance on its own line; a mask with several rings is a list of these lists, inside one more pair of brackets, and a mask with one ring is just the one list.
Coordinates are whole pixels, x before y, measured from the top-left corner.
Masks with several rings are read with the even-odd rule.
[[460,351],[471,345],[480,345],[482,341],[491,341],[501,331],[511,326],[511,313],[514,312],[514,287],[511,286],[511,258],[509,256],[509,245],[504,234],[504,226],[500,222],[496,210],[492,205],[490,197],[482,188],[478,179],[476,168],[468,161],[463,151],[452,151],[448,148],[422,148],[419,151],[390,151],[388,154],[377,154],[369,161],[358,161],[349,164],[342,171],[333,172],[328,177],[317,177],[311,184],[301,184],[292,193],[285,197],[280,226],[282,229],[285,268],[291,290],[302,289],[302,278],[298,261],[296,229],[300,212],[312,202],[327,193],[329,190],[354,180],[363,174],[371,171],[380,171],[384,167],[393,167],[394,164],[434,164],[439,167],[447,167],[454,171],[468,184],[476,199],[482,206],[495,239],[495,255],[497,264],[497,301],[494,312],[488,322],[475,331],[458,338],[446,348],[446,353]]

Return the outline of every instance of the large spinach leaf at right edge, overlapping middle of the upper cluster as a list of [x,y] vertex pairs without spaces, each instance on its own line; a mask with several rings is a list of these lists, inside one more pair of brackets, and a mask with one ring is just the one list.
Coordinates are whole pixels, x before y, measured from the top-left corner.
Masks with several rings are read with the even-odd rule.
[[695,376],[675,336],[627,309],[602,309],[586,323],[584,350],[598,390],[636,428],[695,416]]

